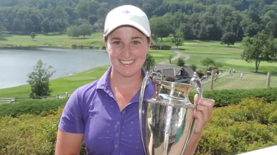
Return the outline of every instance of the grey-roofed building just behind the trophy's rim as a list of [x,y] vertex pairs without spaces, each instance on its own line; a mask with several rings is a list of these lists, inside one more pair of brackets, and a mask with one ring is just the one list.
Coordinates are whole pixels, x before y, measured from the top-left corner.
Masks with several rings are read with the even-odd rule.
[[163,80],[167,77],[175,79],[175,82],[189,83],[190,79],[193,77],[194,71],[190,67],[180,67],[180,66],[171,66],[164,64],[156,64],[157,77],[156,79],[161,80],[162,69],[163,70]]

